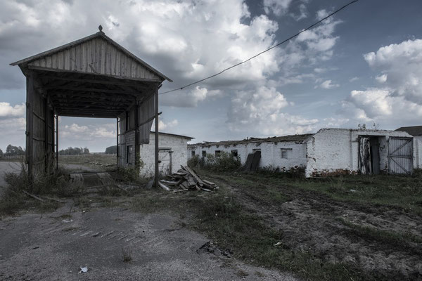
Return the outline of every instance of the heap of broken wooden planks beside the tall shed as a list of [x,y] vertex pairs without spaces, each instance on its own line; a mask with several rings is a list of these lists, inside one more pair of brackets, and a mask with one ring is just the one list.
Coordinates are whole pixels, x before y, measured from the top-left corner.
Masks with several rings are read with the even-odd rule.
[[181,166],[181,169],[176,173],[166,177],[166,180],[158,182],[160,187],[167,191],[181,192],[188,190],[198,191],[215,191],[219,187],[210,181],[201,179],[191,168],[188,166]]

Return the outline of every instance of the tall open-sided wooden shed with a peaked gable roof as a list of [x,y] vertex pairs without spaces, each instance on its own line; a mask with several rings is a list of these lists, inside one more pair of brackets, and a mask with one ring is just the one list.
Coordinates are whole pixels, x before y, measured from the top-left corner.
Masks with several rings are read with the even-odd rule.
[[101,25],[98,28],[88,37],[11,63],[26,77],[31,177],[58,165],[59,116],[115,118],[118,166],[136,163],[155,119],[158,174],[158,89],[172,80],[107,37]]

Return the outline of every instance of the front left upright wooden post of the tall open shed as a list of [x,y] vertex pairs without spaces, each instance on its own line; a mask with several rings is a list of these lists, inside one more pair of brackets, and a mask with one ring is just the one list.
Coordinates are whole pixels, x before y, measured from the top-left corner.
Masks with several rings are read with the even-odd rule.
[[26,75],[26,86],[27,86],[27,103],[26,103],[26,160],[28,164],[28,177],[30,182],[32,182],[34,170],[34,152],[33,152],[33,137],[34,137],[34,75],[32,72],[28,72]]

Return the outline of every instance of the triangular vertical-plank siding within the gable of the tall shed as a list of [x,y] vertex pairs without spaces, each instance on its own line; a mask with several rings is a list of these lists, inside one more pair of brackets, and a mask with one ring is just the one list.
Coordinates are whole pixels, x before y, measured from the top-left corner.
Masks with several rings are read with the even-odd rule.
[[109,75],[118,78],[162,81],[106,39],[94,38],[28,64],[51,70]]

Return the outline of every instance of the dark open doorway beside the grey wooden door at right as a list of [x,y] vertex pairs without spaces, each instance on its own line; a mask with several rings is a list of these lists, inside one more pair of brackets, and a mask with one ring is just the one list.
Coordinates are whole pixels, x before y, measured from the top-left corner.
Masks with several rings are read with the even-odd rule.
[[361,174],[380,174],[380,137],[359,137],[359,170]]

